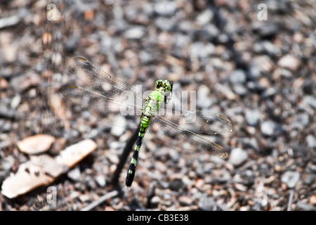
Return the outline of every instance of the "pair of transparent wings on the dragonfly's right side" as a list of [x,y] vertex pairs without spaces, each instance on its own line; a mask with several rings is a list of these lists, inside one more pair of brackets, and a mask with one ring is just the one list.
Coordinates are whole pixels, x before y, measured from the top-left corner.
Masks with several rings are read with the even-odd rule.
[[183,110],[178,107],[166,110],[163,116],[159,114],[162,113],[158,112],[158,115],[152,118],[151,131],[155,131],[154,136],[168,143],[169,146],[186,150],[206,151],[220,157],[226,156],[223,148],[202,136],[202,134],[232,131],[232,124],[228,118],[217,113]]

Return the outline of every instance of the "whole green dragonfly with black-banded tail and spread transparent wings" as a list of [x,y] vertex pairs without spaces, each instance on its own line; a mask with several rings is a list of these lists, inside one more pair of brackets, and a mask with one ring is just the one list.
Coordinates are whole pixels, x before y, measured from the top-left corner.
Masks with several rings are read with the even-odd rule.
[[133,183],[138,153],[148,128],[154,127],[154,136],[166,145],[226,157],[223,148],[204,135],[232,131],[230,120],[218,113],[187,110],[175,104],[167,107],[172,102],[173,82],[157,80],[154,91],[143,98],[135,88],[108,75],[85,58],[68,58],[66,65],[84,87],[62,87],[65,98],[107,124],[139,129],[126,175],[126,188]]

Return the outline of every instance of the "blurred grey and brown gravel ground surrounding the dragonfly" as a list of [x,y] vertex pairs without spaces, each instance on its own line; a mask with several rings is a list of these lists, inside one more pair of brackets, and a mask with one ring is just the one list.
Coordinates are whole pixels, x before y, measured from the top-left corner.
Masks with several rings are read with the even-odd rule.
[[[46,14],[48,4],[57,13]],[[1,1],[0,184],[28,160],[18,141],[51,134],[52,155],[83,139],[98,144],[51,184],[55,210],[81,210],[113,191],[133,131],[115,134],[62,98],[75,78],[65,58],[81,56],[129,85],[152,90],[170,79],[196,90],[199,109],[233,126],[214,138],[225,159],[146,134],[131,190],[93,210],[315,210],[315,8],[313,0]],[[1,195],[0,208],[52,210],[46,188]]]

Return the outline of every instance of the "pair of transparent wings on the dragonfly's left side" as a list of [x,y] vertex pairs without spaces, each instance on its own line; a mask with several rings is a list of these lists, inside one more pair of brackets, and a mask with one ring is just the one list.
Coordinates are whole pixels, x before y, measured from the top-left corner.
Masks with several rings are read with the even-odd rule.
[[65,98],[107,124],[129,128],[138,126],[143,99],[135,89],[84,58],[68,58],[67,67],[87,88],[65,86],[61,89]]

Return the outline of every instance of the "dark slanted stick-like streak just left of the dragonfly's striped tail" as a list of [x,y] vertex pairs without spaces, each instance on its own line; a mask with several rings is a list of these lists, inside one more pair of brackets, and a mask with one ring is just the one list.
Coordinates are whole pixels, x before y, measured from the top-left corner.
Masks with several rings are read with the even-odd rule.
[[133,150],[133,146],[135,145],[135,142],[138,137],[138,131],[140,129],[140,126],[134,131],[133,135],[131,136],[131,139],[129,139],[129,142],[126,143],[126,146],[124,148],[123,153],[121,154],[121,158],[119,160],[119,164],[117,165],[117,169],[115,169],[115,172],[112,177],[112,185],[118,186],[119,184],[119,174],[121,174],[121,170],[123,169],[126,159],[129,157],[129,153]]

